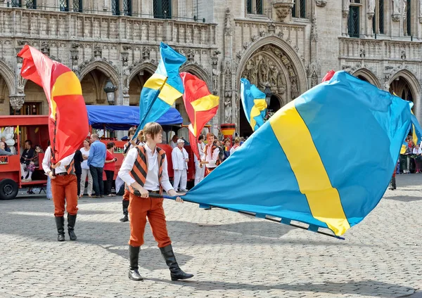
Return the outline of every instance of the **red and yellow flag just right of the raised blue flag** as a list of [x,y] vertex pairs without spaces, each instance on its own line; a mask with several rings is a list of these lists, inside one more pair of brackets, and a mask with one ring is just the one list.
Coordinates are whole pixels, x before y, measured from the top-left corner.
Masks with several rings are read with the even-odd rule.
[[193,153],[199,160],[198,138],[200,132],[217,113],[219,97],[213,96],[207,84],[188,72],[181,72],[184,85],[183,101],[191,124],[189,124],[189,142]]

